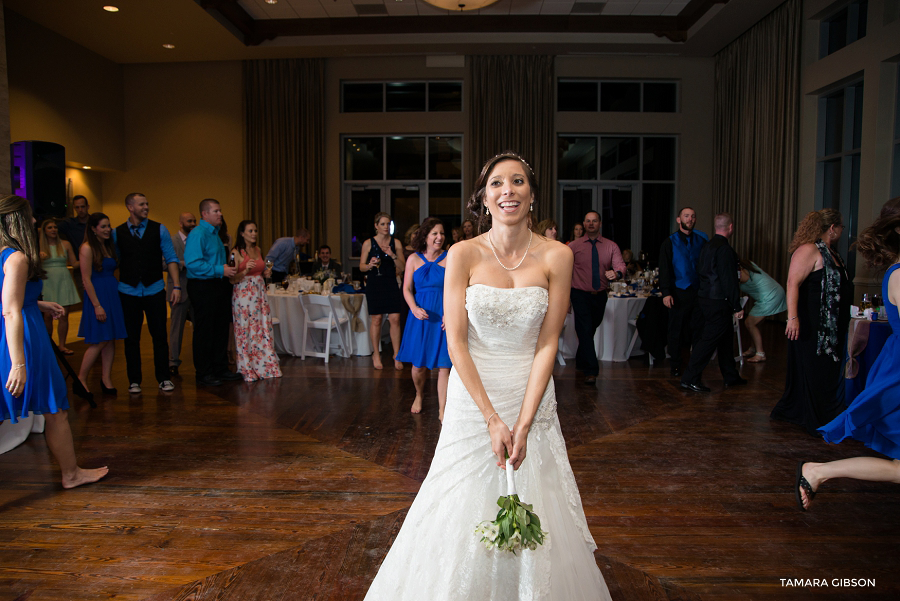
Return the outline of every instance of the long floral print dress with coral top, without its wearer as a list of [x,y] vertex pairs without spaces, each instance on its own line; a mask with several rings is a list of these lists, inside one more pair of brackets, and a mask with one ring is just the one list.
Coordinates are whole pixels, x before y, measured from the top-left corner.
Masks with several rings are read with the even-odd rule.
[[[238,265],[238,271],[243,271],[249,261],[250,256],[245,256]],[[245,382],[281,377],[266,283],[262,277],[264,269],[265,259],[260,257],[253,269],[234,285],[231,297],[237,368]]]

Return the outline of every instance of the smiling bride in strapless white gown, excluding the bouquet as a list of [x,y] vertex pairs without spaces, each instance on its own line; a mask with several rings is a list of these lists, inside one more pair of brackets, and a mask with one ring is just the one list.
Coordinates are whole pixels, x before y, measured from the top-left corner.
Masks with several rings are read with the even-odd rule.
[[[536,189],[531,167],[505,152],[487,162],[469,199],[479,225],[491,228],[454,244],[447,257],[444,323],[453,370],[440,439],[367,601],[610,599],[550,377],[572,252],[529,231]],[[519,497],[549,532],[537,550],[517,555],[485,549],[475,535],[507,494],[507,454]]]

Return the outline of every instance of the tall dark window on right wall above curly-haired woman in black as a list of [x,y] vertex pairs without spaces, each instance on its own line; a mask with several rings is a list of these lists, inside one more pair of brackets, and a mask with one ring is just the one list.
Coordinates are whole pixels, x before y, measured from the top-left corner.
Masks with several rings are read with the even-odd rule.
[[851,279],[856,269],[850,246],[858,226],[862,107],[862,81],[819,98],[816,205],[837,209],[844,217],[847,235],[841,238],[840,251],[847,257]]

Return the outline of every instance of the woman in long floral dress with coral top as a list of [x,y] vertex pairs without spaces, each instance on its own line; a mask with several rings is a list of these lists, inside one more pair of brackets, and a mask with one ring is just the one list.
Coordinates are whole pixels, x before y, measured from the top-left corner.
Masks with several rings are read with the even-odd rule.
[[272,338],[272,318],[266,298],[264,277],[265,259],[257,244],[256,224],[249,220],[238,225],[233,256],[238,272],[231,278],[234,293],[231,313],[234,319],[234,342],[237,351],[237,370],[245,382],[261,378],[280,378],[281,365],[275,354]]

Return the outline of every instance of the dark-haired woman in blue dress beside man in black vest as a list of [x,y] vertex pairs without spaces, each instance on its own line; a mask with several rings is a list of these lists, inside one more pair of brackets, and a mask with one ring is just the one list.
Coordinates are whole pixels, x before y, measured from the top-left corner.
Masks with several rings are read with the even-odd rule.
[[81,360],[78,380],[73,384],[75,394],[93,398],[87,384],[88,374],[100,357],[100,387],[103,394],[115,395],[112,385],[112,362],[116,356],[116,340],[124,339],[125,317],[119,300],[119,282],[116,280],[116,248],[112,241],[109,217],[92,213],[84,231],[84,244],[78,255],[81,280],[84,282],[85,303],[81,310],[78,335],[84,338],[88,349]]

